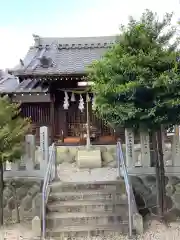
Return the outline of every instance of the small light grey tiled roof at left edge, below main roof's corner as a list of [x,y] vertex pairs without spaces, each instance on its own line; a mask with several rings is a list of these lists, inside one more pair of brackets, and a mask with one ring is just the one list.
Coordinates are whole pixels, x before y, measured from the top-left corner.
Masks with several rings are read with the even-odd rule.
[[19,79],[13,75],[0,71],[0,93],[11,93],[19,85]]

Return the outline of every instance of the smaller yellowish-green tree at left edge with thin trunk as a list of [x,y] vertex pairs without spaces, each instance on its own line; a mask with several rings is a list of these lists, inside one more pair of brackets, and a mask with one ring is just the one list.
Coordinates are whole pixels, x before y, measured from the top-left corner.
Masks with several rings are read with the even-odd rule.
[[0,225],[3,225],[4,163],[20,159],[24,151],[24,136],[30,121],[21,118],[20,105],[11,103],[8,97],[0,98]]

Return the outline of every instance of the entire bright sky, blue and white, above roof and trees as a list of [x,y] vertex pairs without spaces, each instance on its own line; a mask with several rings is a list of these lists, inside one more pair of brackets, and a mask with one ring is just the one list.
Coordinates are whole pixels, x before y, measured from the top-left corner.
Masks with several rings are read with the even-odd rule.
[[117,34],[129,15],[149,8],[161,16],[175,12],[180,0],[1,0],[0,68],[15,66],[40,36],[98,36]]

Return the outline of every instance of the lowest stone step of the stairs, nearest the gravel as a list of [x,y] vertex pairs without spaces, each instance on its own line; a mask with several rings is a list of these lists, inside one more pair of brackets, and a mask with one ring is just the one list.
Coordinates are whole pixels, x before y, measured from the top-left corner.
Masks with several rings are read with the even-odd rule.
[[[113,234],[112,234],[113,233]],[[128,223],[122,222],[118,224],[105,224],[105,225],[82,225],[82,226],[62,226],[47,230],[47,237],[54,239],[64,239],[77,237],[90,237],[90,236],[108,236],[109,234],[119,235],[128,233]]]

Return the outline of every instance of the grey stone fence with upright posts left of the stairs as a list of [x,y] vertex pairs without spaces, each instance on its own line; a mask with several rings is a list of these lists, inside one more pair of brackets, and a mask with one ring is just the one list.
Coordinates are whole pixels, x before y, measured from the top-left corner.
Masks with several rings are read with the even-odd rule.
[[25,154],[19,161],[6,162],[4,179],[35,178],[44,179],[49,157],[48,128],[40,128],[40,146],[35,144],[35,136],[28,134],[25,137]]

